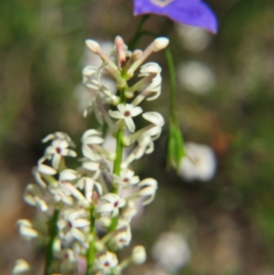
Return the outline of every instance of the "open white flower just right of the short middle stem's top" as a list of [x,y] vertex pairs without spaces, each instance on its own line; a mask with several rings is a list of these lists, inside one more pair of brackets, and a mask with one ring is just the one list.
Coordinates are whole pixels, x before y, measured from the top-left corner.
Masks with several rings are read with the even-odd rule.
[[123,200],[123,198],[114,193],[108,193],[101,196],[95,212],[101,215],[110,213],[111,217],[116,217],[116,215],[119,214],[119,208],[124,205],[125,200]]

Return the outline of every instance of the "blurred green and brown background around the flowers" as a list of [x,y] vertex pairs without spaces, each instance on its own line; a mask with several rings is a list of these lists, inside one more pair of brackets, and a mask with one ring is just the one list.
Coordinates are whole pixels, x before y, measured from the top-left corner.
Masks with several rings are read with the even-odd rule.
[[[216,36],[203,32],[201,40],[195,40],[188,29],[160,16],[151,16],[144,28],[171,38],[180,126],[186,141],[213,148],[216,176],[210,182],[185,182],[175,171],[165,171],[165,128],[155,152],[136,166],[141,177],[156,178],[160,188],[135,226],[133,242],[146,246],[149,254],[162,232],[182,233],[192,259],[177,274],[271,275],[274,2],[207,3],[219,18]],[[61,130],[79,144],[84,130],[94,124],[93,116],[82,117],[75,96],[86,64],[84,40],[113,40],[119,34],[127,43],[139,21],[130,0],[0,1],[1,274],[10,274],[14,260],[22,257],[34,263],[34,274],[42,274],[42,250],[21,241],[15,223],[35,215],[21,194],[33,181],[32,167],[45,148],[40,140]],[[193,44],[193,39],[198,42]],[[142,38],[138,47],[144,49],[150,41]],[[164,78],[153,108],[167,121],[164,54],[152,59],[162,65]],[[179,68],[192,61],[210,70],[212,82],[205,91],[184,86]],[[151,104],[144,108],[151,110]],[[132,267],[128,274],[151,274],[153,265],[149,256],[145,265]]]

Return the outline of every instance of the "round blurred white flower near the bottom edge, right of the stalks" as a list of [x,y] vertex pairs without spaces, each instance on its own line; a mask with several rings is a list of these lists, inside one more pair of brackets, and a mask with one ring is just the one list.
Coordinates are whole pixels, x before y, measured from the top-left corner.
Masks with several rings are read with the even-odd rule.
[[175,273],[190,261],[191,251],[183,235],[166,232],[155,242],[152,256],[167,271]]

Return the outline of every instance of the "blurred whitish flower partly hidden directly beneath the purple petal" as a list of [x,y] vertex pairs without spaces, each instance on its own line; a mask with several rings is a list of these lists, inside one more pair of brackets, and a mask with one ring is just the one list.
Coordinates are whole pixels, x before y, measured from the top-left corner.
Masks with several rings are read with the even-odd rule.
[[212,40],[212,34],[206,32],[205,29],[178,24],[176,30],[180,38],[179,41],[188,51],[203,51],[210,45]]

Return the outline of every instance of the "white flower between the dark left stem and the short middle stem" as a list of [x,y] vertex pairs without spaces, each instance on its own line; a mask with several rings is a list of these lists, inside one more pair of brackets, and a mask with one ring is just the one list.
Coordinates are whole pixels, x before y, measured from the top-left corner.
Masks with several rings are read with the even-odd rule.
[[66,241],[75,239],[80,241],[80,243],[84,243],[86,235],[84,235],[82,229],[90,226],[90,221],[86,219],[86,211],[84,209],[79,211],[68,209],[64,211],[62,218],[58,220],[57,226],[61,239]]

